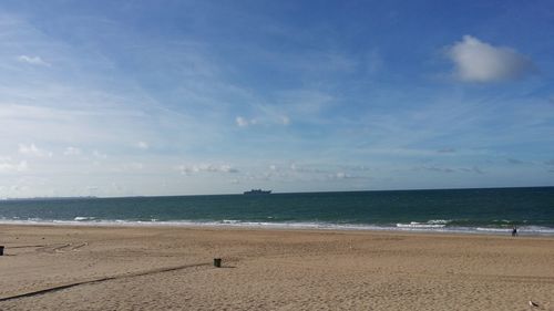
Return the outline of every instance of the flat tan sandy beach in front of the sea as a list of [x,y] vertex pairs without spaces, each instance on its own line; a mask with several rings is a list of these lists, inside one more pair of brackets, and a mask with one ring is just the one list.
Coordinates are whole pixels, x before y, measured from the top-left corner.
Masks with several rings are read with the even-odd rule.
[[554,310],[552,238],[0,226],[0,310]]

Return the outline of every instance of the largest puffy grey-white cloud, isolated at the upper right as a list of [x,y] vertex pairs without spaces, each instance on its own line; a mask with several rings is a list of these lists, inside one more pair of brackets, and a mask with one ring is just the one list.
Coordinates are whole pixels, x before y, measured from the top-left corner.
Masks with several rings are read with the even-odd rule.
[[515,50],[494,46],[464,35],[448,50],[455,64],[458,79],[466,82],[495,82],[515,80],[534,71],[531,60]]

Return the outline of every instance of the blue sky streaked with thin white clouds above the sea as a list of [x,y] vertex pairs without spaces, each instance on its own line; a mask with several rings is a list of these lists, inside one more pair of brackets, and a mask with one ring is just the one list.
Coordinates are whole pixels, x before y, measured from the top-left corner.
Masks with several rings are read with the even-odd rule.
[[554,3],[0,2],[0,198],[554,186]]

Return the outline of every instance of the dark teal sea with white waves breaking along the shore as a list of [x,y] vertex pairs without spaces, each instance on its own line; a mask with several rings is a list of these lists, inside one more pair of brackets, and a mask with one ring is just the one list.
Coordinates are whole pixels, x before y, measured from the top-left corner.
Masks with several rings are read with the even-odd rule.
[[554,236],[554,187],[9,199],[0,222]]

